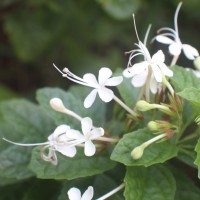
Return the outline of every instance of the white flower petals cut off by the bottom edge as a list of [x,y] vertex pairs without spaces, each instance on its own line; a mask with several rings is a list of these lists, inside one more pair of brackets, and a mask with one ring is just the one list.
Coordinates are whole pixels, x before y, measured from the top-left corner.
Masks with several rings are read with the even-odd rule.
[[81,196],[81,192],[78,188],[71,188],[68,192],[69,200],[91,200],[94,195],[94,190],[92,186],[89,186],[88,189]]

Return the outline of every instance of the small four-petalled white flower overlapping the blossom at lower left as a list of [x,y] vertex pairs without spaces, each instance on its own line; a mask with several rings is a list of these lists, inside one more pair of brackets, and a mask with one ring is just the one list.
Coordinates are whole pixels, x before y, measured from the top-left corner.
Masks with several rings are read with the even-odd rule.
[[93,156],[96,152],[96,147],[92,143],[92,140],[98,139],[104,135],[103,128],[95,128],[92,125],[92,120],[89,117],[85,117],[81,120],[82,132],[78,131],[67,132],[66,135],[70,138],[72,144],[84,144],[84,153],[86,156]]

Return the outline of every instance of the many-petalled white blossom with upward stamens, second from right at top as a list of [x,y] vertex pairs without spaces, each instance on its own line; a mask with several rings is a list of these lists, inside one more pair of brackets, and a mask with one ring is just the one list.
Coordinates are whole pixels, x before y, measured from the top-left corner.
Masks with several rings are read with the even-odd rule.
[[[138,49],[130,51],[130,57],[128,61],[128,68],[124,70],[123,75],[127,78],[132,77],[132,85],[134,87],[146,86],[146,90],[151,90],[152,93],[156,93],[160,88],[163,76],[171,77],[173,72],[164,63],[165,56],[161,50],[157,51],[152,57],[146,47],[146,40],[150,27],[147,30],[144,43],[139,40],[135,18],[134,27],[136,36],[138,38],[138,44],[135,44]],[[138,55],[144,57],[144,61],[136,64],[132,64],[132,59]]]

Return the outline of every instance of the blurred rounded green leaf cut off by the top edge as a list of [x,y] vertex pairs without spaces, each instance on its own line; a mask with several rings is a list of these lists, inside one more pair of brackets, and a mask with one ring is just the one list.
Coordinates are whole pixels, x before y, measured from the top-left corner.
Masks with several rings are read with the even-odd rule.
[[139,0],[97,0],[102,8],[117,19],[131,17],[140,6]]

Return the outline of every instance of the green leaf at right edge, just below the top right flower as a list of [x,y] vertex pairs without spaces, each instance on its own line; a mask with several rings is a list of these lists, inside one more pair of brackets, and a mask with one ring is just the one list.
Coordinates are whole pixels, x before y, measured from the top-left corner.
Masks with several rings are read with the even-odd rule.
[[170,81],[175,87],[176,92],[180,92],[189,87],[200,88],[200,79],[194,75],[191,69],[185,69],[179,66],[173,66],[171,69],[174,75],[170,78]]

